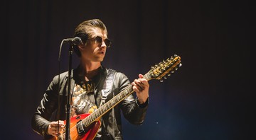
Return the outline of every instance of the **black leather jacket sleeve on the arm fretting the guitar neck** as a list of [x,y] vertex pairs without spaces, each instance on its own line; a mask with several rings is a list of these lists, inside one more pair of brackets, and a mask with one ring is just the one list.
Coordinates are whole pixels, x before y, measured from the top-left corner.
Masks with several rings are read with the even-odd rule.
[[[127,86],[129,86],[130,82],[124,74],[117,74],[119,74],[119,91],[122,92]],[[139,105],[138,99],[134,98],[134,94],[129,95],[122,101],[122,103],[120,103],[124,117],[132,124],[142,124],[146,117],[146,110],[149,103],[148,100],[146,103]]]

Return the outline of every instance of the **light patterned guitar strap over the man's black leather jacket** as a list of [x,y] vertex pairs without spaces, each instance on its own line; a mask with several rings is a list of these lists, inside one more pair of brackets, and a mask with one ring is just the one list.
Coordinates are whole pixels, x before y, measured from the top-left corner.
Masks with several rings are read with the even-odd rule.
[[101,90],[102,93],[102,99],[100,101],[100,107],[105,104],[105,100],[107,99],[107,95],[110,94],[110,91],[112,90],[112,86],[114,83],[114,74],[116,71],[113,69],[109,69],[107,72],[107,77],[105,79],[105,82],[103,83],[103,87]]

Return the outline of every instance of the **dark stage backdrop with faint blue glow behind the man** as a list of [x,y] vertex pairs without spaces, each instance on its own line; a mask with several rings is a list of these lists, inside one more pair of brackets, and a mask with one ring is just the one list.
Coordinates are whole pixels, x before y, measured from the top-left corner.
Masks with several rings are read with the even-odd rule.
[[123,119],[124,139],[255,139],[255,4],[221,0],[2,1],[0,139],[42,139],[31,117],[58,74],[60,42],[92,18],[112,40],[102,64],[130,81],[174,54],[183,64],[149,81],[144,124]]

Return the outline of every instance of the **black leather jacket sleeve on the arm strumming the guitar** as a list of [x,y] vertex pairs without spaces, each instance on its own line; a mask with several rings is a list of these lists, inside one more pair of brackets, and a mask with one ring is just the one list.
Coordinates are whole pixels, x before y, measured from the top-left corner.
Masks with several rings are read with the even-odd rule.
[[58,105],[58,76],[53,78],[48,86],[46,93],[43,94],[41,103],[38,105],[36,112],[31,119],[31,127],[33,131],[41,136],[45,136],[48,125],[50,124],[50,117],[56,110]]

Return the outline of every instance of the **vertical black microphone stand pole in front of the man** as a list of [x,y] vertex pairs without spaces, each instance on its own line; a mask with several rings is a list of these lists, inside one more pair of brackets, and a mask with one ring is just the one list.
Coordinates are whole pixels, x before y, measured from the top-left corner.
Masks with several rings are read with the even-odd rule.
[[66,126],[65,126],[65,139],[69,140],[70,138],[70,76],[71,76],[71,67],[72,67],[72,54],[73,54],[73,45],[70,43],[69,47],[69,63],[68,63],[68,95],[67,95],[67,113],[66,113]]

